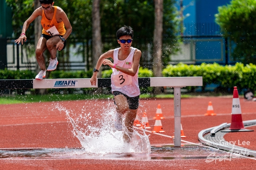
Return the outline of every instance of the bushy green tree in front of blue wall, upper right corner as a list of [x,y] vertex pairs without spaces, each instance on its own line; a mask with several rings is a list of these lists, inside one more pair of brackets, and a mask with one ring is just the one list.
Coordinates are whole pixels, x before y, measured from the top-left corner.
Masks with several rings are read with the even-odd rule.
[[256,1],[232,0],[218,8],[216,23],[232,42],[232,57],[243,63],[256,64]]

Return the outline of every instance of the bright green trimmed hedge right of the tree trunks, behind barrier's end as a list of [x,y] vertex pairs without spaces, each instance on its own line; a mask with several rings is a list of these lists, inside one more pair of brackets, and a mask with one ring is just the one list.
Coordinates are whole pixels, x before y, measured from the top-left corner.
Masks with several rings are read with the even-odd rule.
[[238,90],[250,88],[256,90],[256,65],[236,63],[234,66],[220,64],[187,65],[177,64],[168,65],[163,69],[164,77],[187,77],[187,76],[202,76],[203,89],[206,84],[219,84],[220,89],[233,89],[234,86]]

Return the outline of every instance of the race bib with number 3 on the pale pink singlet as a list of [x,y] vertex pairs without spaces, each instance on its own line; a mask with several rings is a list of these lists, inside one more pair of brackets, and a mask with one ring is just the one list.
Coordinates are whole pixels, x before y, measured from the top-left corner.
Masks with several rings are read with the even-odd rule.
[[124,73],[112,75],[112,78],[114,80],[114,85],[116,86],[116,88],[121,88],[123,86],[132,84],[132,76]]

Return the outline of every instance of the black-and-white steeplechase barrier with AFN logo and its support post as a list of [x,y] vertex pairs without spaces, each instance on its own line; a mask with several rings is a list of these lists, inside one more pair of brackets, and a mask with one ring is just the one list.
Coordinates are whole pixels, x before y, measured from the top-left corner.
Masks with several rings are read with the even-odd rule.
[[[181,88],[186,86],[202,86],[202,77],[150,77],[138,78],[140,87],[172,87],[174,88],[174,147],[181,146]],[[66,79],[25,79],[0,80],[0,89],[31,89],[31,88],[101,88],[111,87],[110,78],[98,78],[96,86],[92,86],[90,78]]]

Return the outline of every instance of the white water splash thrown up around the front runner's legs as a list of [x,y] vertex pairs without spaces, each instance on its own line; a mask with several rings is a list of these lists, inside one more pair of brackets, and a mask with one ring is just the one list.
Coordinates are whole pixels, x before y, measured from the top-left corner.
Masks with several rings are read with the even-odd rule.
[[[74,136],[78,138],[87,154],[150,153],[151,151],[149,138],[145,131],[138,132],[134,129],[132,135],[128,135],[126,127],[123,127],[124,131],[117,131],[114,128],[116,109],[111,106],[110,102],[102,108],[104,111],[96,111],[96,109],[89,108],[90,104],[85,104],[81,113],[74,113],[60,104],[55,106],[59,111],[66,113],[73,127]],[[130,143],[123,141],[124,133],[131,136]]]

